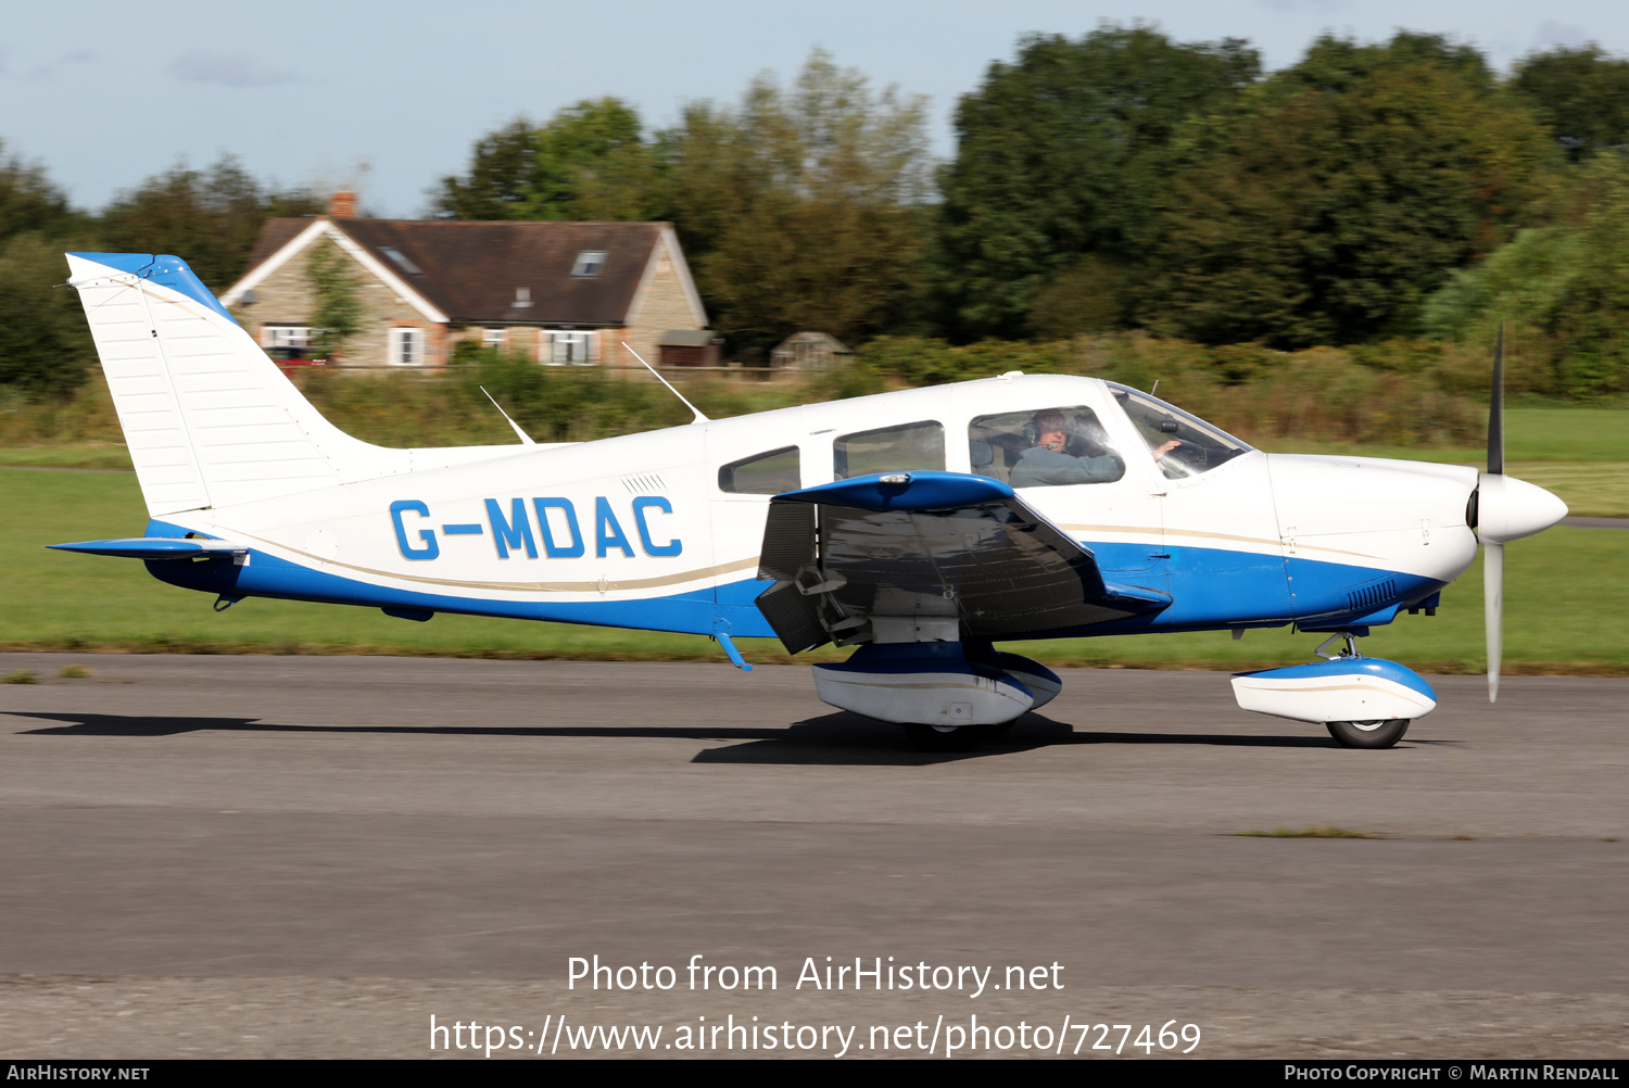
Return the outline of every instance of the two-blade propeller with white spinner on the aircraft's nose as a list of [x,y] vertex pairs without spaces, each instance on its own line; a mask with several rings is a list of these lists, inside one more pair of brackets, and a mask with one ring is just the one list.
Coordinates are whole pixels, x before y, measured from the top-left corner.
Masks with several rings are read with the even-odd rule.
[[1494,394],[1487,406],[1487,471],[1476,487],[1482,541],[1482,621],[1487,625],[1487,702],[1499,700],[1504,648],[1505,544],[1543,533],[1567,516],[1567,503],[1543,487],[1505,476],[1505,322],[1494,340]]

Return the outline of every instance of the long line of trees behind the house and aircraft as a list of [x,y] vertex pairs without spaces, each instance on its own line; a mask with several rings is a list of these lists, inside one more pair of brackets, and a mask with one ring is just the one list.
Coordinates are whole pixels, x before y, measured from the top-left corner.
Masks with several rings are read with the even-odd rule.
[[[432,213],[671,220],[746,362],[800,329],[857,345],[1145,331],[1240,358],[1398,360],[1505,319],[1528,388],[1629,391],[1629,60],[1596,46],[1500,75],[1442,36],[1326,34],[1266,73],[1241,39],[1104,24],[1023,39],[959,99],[955,134],[935,163],[925,99],[816,50],[790,83],[759,77],[665,129],[614,98],[520,117],[437,182]],[[220,288],[266,217],[316,210],[223,160],[91,217],[39,166],[0,161],[0,308],[26,296],[33,314],[0,321],[0,383],[49,384],[28,358],[88,350],[72,293],[42,287],[60,267],[34,277],[60,239],[178,252]]]

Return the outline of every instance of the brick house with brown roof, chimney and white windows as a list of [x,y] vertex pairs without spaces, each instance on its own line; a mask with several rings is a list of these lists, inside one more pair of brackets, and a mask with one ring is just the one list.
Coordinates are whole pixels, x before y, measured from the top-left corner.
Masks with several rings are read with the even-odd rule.
[[310,261],[323,246],[349,257],[362,311],[344,366],[440,366],[476,339],[546,365],[637,368],[624,342],[656,363],[665,337],[707,329],[671,223],[375,220],[353,208],[340,192],[327,215],[261,230],[222,303],[267,350],[310,342]]

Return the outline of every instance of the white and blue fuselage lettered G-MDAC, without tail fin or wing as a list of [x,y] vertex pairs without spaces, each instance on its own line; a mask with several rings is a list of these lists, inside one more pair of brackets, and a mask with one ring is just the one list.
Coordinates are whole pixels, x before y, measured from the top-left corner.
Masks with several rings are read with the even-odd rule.
[[500,448],[464,464],[171,515],[148,534],[239,541],[246,562],[148,568],[226,598],[771,635],[753,599],[767,585],[756,575],[772,494],[862,471],[995,474],[1005,469],[989,463],[990,420],[1047,409],[1095,415],[1096,448],[1116,451],[1122,471],[1020,487],[1021,497],[1088,547],[1106,578],[1165,591],[1173,604],[1036,635],[1386,622],[1474,559],[1466,505],[1476,469],[1241,446],[1222,464],[1173,474],[1124,404],[1126,391],[1093,378],[1015,375]]

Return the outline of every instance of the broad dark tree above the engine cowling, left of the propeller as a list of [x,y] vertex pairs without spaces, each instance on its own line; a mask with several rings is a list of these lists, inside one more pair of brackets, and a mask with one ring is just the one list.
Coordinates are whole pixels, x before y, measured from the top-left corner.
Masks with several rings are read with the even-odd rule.
[[1319,39],[1196,119],[1139,269],[1139,318],[1205,344],[1407,336],[1447,275],[1510,236],[1554,145],[1466,47]]

